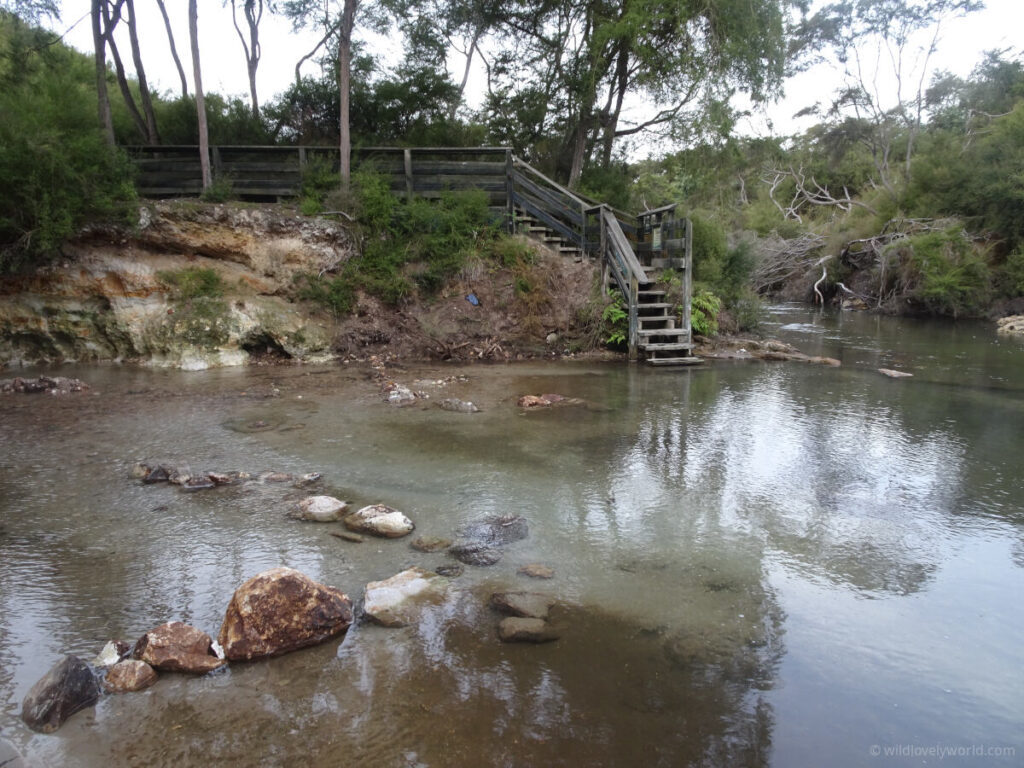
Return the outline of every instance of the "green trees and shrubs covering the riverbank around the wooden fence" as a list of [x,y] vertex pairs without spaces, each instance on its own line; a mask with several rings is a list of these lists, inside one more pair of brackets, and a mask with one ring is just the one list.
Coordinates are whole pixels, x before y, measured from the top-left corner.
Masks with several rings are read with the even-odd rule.
[[[133,19],[118,27],[110,11],[122,3],[94,5],[109,15],[105,60],[115,28],[126,35]],[[329,4],[326,44],[307,72],[300,61],[292,87],[260,99],[250,55],[257,6],[240,4],[251,93],[204,93],[205,126],[183,69],[180,93],[151,92],[140,61],[133,77],[116,58],[101,79],[121,94],[106,99],[116,144],[191,144],[205,131],[219,144],[337,145],[348,131],[355,145],[511,145],[621,208],[680,203],[694,223],[694,295],[715,299],[706,311],[721,307],[709,328],[756,327],[766,294],[950,316],[1024,306],[1024,63],[991,51],[958,78],[931,61],[940,26],[975,3],[864,0],[809,14],[774,0],[751,15],[715,0],[663,17],[630,4],[388,0],[362,6],[349,33],[372,17],[404,42],[406,57],[387,67],[356,39],[346,94],[338,68],[351,40],[338,24],[348,6]],[[125,219],[134,193],[129,164],[96,119],[96,61],[30,23],[58,4],[0,8],[9,9],[0,10],[0,271],[11,271],[52,258],[88,222]],[[467,72],[482,57],[490,75],[477,110],[445,66],[460,40]],[[869,49],[896,62],[890,96],[853,63]],[[812,127],[738,132],[733,92],[764,101],[787,75],[824,60],[839,68],[839,88],[808,105]],[[624,104],[637,98],[666,106],[628,124]],[[637,142],[660,154],[641,160]],[[430,294],[474,260],[511,260],[528,274],[528,258],[498,237],[480,200],[397,201],[371,171],[354,169],[342,193],[336,169],[308,170],[300,212],[344,211],[358,222],[362,253],[336,274],[304,279],[302,296],[343,313],[360,291],[389,304]],[[229,198],[229,179],[214,179],[208,194]]]

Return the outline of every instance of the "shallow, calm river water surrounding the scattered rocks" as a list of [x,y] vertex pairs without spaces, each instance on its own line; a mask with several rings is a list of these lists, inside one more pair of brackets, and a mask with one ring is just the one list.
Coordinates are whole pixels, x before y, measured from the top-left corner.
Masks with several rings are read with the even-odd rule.
[[[0,735],[53,767],[1021,765],[1024,345],[793,306],[767,330],[843,367],[392,369],[465,377],[404,408],[359,366],[50,369],[92,391],[0,399]],[[542,392],[587,404],[516,408]],[[167,674],[34,734],[22,698],[62,654],[216,635],[263,569],[357,599],[453,562],[289,519],[287,485],[142,485],[141,459],[318,471],[418,534],[516,513],[530,536],[418,626]],[[498,641],[509,589],[557,599],[557,642]]]

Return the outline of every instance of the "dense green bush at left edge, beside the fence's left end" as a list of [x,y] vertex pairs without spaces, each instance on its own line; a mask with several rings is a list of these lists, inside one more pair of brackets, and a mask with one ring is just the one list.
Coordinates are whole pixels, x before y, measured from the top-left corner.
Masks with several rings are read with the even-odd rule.
[[87,56],[0,12],[0,273],[54,257],[85,223],[127,221],[126,158],[96,127]]

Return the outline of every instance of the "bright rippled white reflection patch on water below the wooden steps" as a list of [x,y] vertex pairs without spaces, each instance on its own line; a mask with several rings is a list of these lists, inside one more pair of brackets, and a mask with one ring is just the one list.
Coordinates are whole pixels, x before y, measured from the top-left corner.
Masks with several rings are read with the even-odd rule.
[[758,530],[830,579],[906,594],[936,568],[964,453],[946,431],[914,434],[864,398],[802,398],[766,369],[699,410],[649,406],[622,461],[648,499],[682,500],[681,527]]

